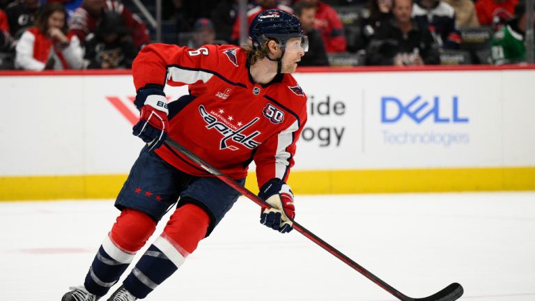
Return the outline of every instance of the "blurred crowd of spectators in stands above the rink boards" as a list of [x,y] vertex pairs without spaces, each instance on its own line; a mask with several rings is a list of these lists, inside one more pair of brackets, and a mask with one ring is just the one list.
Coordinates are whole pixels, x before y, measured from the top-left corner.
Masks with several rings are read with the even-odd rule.
[[[240,45],[238,0],[0,0],[0,70],[130,68],[162,42]],[[523,63],[523,0],[256,0],[247,22],[279,8],[300,18],[309,53],[300,65]],[[529,39],[532,40],[532,39]]]

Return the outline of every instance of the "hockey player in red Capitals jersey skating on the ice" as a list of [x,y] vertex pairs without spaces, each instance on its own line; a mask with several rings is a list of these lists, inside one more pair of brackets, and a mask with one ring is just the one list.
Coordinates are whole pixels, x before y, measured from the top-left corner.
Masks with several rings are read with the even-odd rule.
[[[165,142],[166,135],[240,183],[254,160],[258,194],[274,208],[261,223],[289,232],[295,208],[286,185],[295,142],[307,120],[302,89],[288,73],[307,51],[297,17],[266,10],[251,23],[251,46],[144,47],[132,65],[141,111],[134,135],[148,143],[115,206],[121,215],[100,246],[84,285],[62,301],[98,300],[116,284],[178,199],[163,233],[148,247],[108,300],[145,298],[210,235],[238,199],[217,178]],[[189,85],[189,95],[166,101],[164,84]]]

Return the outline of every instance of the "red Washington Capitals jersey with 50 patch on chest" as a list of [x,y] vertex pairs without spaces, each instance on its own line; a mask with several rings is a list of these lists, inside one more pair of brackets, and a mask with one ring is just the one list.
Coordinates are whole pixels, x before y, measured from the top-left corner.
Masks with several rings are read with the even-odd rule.
[[[192,97],[169,104],[169,136],[235,179],[245,178],[254,160],[261,187],[288,178],[307,121],[307,96],[289,74],[255,83],[246,62],[247,53],[234,45],[150,44],[134,60],[132,73],[136,89],[189,85]],[[166,144],[155,152],[182,171],[210,176]]]

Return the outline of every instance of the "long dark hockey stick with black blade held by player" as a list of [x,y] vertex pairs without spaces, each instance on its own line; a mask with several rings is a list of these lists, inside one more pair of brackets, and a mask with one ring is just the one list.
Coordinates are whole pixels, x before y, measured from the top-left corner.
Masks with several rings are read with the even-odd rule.
[[[200,167],[202,167],[209,173],[212,173],[212,175],[219,178],[219,180],[222,180],[224,183],[231,186],[234,190],[240,192],[240,194],[247,196],[248,199],[251,199],[251,201],[254,201],[256,204],[258,204],[258,206],[261,206],[263,208],[271,208],[271,206],[268,203],[260,199],[258,196],[256,196],[256,194],[254,194],[247,188],[243,187],[242,185],[240,185],[240,183],[237,183],[231,177],[222,173],[218,169],[215,169],[215,167],[212,167],[210,164],[208,164],[208,162],[197,157],[194,153],[189,151],[187,148],[178,144],[178,142],[174,141],[173,139],[169,137],[167,137],[165,142],[169,146],[172,146],[173,149],[176,149],[176,151],[179,151],[180,153],[185,155],[189,160],[192,160],[193,162],[198,164]],[[332,247],[332,245],[329,245],[327,242],[325,242],[324,240],[316,236],[311,231],[305,229],[304,226],[297,224],[297,222],[295,222],[293,219],[291,219],[291,221],[293,222],[293,229],[295,229],[297,232],[309,238],[309,240],[316,242],[317,245],[319,245],[320,247],[323,247],[323,249],[325,249],[327,252],[336,256],[336,258],[339,258],[341,261],[349,265],[351,268],[354,268],[355,270],[357,270],[359,273],[364,275],[364,277],[375,282],[375,284],[382,287],[385,291],[391,293],[391,295],[394,295],[394,297],[398,298],[399,300],[402,300],[402,301],[454,301],[460,298],[461,295],[463,295],[463,286],[461,286],[458,283],[453,283],[447,286],[446,288],[442,289],[442,291],[439,291],[438,293],[430,295],[429,297],[410,298],[404,295],[403,293],[401,293],[400,291],[396,290],[396,288],[391,287],[385,281],[382,281],[379,277],[373,275],[369,270],[362,268],[361,265],[359,265],[355,261],[352,261],[351,258],[342,254],[342,252]]]

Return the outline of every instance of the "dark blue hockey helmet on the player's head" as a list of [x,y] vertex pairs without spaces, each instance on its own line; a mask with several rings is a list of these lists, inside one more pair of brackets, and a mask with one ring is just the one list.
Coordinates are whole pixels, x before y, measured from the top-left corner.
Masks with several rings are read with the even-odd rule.
[[284,10],[265,10],[254,17],[249,27],[249,38],[253,43],[253,49],[261,49],[266,41],[276,40],[284,53],[286,40],[290,38],[302,38],[304,52],[308,50],[307,36],[303,35],[299,18]]

